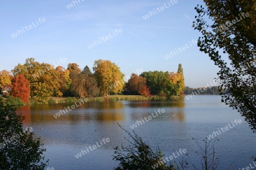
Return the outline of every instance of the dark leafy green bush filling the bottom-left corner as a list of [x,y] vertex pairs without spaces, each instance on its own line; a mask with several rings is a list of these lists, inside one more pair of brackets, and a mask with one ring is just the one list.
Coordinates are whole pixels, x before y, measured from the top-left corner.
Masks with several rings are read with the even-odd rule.
[[43,144],[31,128],[23,130],[24,117],[0,99],[0,169],[44,169]]

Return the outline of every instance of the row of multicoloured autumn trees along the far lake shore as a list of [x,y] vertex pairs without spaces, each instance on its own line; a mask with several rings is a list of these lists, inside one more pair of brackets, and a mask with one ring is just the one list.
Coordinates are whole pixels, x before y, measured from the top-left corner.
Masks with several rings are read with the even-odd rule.
[[125,74],[109,60],[94,61],[93,71],[86,65],[83,70],[77,63],[68,63],[67,69],[56,68],[49,63],[39,63],[35,58],[27,58],[18,63],[11,72],[0,71],[0,87],[10,84],[9,95],[20,97],[24,103],[30,99],[39,101],[49,97],[98,97],[114,94],[161,95],[171,97],[181,95],[184,76],[181,64],[177,73],[168,71],[144,71],[140,75],[131,74],[125,82]]

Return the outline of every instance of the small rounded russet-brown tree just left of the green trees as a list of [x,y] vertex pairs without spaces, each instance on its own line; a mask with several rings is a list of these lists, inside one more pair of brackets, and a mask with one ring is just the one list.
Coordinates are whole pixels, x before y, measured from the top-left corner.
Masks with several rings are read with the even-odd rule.
[[131,74],[130,79],[128,80],[128,90],[132,95],[137,95],[138,91],[141,90],[142,86],[146,85],[146,78],[139,76],[135,73]]

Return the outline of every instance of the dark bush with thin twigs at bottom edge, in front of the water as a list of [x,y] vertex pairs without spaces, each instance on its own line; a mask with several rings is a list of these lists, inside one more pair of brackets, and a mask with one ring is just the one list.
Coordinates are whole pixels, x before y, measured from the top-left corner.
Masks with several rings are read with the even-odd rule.
[[[119,124],[118,126],[123,129]],[[125,129],[123,129],[125,130]],[[115,167],[115,170],[138,170],[138,169],[149,169],[149,170],[180,170],[180,169],[203,169],[203,170],[217,170],[219,160],[216,155],[215,143],[218,141],[217,138],[208,140],[207,138],[203,139],[204,145],[201,146],[196,139],[196,144],[198,146],[195,154],[199,157],[199,162],[195,165],[191,161],[191,156],[185,154],[180,158],[178,162],[168,162],[164,161],[161,151],[153,151],[150,146],[148,146],[141,137],[134,133],[131,134],[129,131],[125,130],[130,139],[126,139],[129,142],[129,146],[121,145],[121,148],[118,146],[114,148],[113,160],[119,162],[118,167]],[[193,155],[195,156],[195,155]],[[170,163],[170,165],[167,165]],[[231,167],[231,166],[230,166]],[[227,168],[230,169],[230,168]]]

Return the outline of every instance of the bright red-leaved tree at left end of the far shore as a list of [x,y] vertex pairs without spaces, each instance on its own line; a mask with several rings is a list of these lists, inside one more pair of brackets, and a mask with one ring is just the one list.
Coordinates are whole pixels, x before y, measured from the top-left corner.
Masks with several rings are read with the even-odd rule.
[[11,81],[11,96],[20,97],[24,103],[30,101],[30,83],[23,74],[14,76]]

